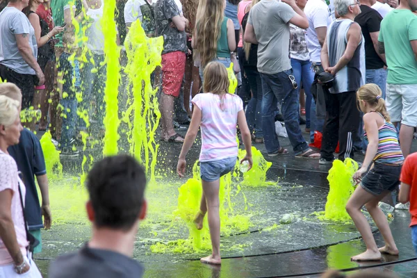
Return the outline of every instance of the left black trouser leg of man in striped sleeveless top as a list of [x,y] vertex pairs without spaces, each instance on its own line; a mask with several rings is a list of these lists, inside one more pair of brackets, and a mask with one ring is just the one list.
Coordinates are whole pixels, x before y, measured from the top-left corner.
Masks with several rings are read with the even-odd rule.
[[334,160],[334,150],[338,142],[339,130],[339,102],[334,94],[329,90],[324,90],[326,100],[327,117],[323,127],[322,147],[320,149],[321,158],[326,161]]

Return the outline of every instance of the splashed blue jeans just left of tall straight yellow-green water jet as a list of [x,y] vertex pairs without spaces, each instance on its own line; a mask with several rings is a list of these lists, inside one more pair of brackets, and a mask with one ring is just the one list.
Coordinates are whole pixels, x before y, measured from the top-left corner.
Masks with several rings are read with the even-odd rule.
[[[94,60],[94,64],[90,62]],[[104,64],[104,55],[92,54],[87,58],[88,63],[84,64],[81,72],[81,86],[83,88],[83,101],[80,104],[81,111],[88,111],[89,118],[96,115],[100,127],[104,126],[104,115],[106,115],[106,103],[104,102],[104,89],[106,88],[107,67]],[[93,72],[91,72],[93,70]],[[92,108],[91,101],[95,100],[95,108]],[[85,121],[79,118],[80,129],[85,129]]]

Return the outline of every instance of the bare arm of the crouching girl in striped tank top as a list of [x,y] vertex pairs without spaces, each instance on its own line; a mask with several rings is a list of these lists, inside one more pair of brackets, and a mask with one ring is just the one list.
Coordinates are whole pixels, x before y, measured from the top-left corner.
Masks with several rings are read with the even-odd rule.
[[368,147],[366,148],[365,159],[363,160],[362,167],[356,173],[354,173],[353,179],[359,183],[363,174],[368,171],[369,166],[373,163],[373,159],[378,152],[379,144],[379,131],[377,124],[377,113],[367,113],[363,115],[363,124],[365,126],[366,133],[368,134]]

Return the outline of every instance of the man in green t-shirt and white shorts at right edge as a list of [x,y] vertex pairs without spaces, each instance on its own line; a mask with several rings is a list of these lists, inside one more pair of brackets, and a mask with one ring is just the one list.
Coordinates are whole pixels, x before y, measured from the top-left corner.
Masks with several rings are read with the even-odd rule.
[[402,154],[411,152],[417,126],[417,0],[401,1],[381,22],[379,54],[388,65],[386,108],[391,122],[400,128]]

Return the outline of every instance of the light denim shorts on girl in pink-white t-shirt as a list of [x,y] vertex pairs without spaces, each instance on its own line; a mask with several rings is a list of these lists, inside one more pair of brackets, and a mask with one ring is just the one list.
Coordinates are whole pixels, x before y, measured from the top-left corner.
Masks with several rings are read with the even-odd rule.
[[217,181],[234,170],[237,160],[237,157],[229,157],[218,161],[200,162],[200,177],[203,181]]

